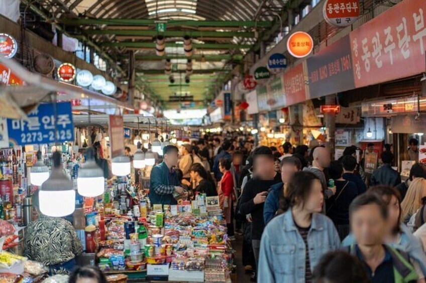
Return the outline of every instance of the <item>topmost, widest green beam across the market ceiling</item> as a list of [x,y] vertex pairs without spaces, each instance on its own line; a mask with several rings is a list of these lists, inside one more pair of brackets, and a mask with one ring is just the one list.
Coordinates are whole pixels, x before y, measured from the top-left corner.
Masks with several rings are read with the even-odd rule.
[[[111,25],[111,26],[149,26],[155,25],[156,20],[148,19],[57,19],[57,22],[65,25]],[[255,21],[195,21],[195,20],[168,20],[168,27],[249,27],[270,28],[271,22]]]

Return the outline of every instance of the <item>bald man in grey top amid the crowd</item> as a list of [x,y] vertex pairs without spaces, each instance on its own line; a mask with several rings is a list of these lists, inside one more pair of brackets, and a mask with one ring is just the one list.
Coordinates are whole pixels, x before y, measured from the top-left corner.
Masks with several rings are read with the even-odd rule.
[[303,168],[303,171],[309,171],[315,174],[323,185],[324,197],[327,199],[335,194],[336,187],[327,188],[326,175],[324,175],[324,169],[330,167],[330,149],[318,146],[313,148],[312,152],[312,166]]

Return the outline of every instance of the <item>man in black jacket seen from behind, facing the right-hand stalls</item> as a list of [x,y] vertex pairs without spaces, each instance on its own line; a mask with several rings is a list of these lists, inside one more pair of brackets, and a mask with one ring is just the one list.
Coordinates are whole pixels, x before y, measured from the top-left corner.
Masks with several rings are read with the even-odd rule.
[[395,187],[401,183],[401,176],[398,171],[395,171],[391,167],[393,160],[393,154],[389,151],[384,151],[380,155],[383,165],[380,168],[374,170],[371,175],[370,186],[375,185],[388,185]]

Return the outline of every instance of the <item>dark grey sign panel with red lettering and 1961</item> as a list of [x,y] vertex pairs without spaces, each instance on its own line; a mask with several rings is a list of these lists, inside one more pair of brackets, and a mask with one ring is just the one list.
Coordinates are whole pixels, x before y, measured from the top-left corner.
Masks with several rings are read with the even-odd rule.
[[309,57],[306,66],[310,98],[355,88],[349,36]]

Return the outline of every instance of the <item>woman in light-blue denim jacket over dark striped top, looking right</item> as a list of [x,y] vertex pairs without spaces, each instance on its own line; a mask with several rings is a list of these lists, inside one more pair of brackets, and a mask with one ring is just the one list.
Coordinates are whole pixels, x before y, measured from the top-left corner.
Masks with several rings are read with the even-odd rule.
[[310,282],[321,256],[340,248],[333,222],[321,214],[323,202],[318,177],[306,171],[295,173],[280,203],[283,214],[263,232],[258,283]]

